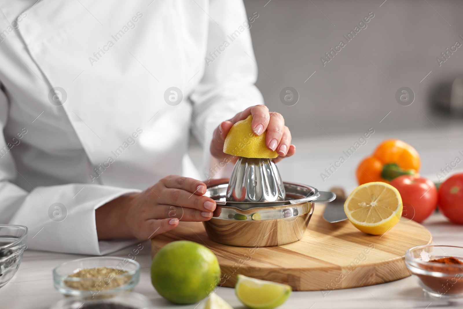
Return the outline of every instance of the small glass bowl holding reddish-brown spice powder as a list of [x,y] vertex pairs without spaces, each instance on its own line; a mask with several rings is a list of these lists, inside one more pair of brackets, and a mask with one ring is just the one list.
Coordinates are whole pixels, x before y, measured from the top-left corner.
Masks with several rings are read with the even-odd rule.
[[438,298],[463,297],[463,247],[413,247],[405,253],[405,264],[428,294]]

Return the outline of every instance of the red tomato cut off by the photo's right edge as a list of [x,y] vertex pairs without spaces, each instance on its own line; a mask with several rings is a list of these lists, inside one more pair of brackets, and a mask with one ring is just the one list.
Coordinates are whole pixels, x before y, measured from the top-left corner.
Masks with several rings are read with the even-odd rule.
[[463,224],[463,173],[453,175],[440,185],[439,210],[450,221]]

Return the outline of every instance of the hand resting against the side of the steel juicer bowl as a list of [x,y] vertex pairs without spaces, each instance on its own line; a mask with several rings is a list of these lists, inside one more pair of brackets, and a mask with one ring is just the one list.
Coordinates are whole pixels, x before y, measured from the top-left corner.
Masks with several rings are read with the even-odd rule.
[[170,175],[148,189],[124,195],[95,210],[98,239],[140,240],[170,231],[181,221],[207,221],[216,203],[204,196],[206,184]]

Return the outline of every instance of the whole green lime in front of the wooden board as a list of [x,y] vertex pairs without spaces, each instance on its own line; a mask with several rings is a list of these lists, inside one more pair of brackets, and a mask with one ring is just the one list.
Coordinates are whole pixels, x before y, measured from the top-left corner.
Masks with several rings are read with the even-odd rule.
[[151,263],[151,283],[172,303],[197,303],[208,296],[220,279],[215,254],[188,240],[171,242],[159,250]]

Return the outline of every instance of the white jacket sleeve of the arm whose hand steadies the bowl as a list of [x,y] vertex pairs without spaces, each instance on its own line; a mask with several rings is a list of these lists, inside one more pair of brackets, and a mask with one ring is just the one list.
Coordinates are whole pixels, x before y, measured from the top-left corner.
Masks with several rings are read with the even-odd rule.
[[5,140],[7,116],[8,102],[0,88],[0,224],[25,225],[29,249],[101,255],[136,241],[98,241],[94,209],[137,190],[71,183],[31,187],[28,192],[12,183],[22,176],[10,149],[21,141],[16,137]]

